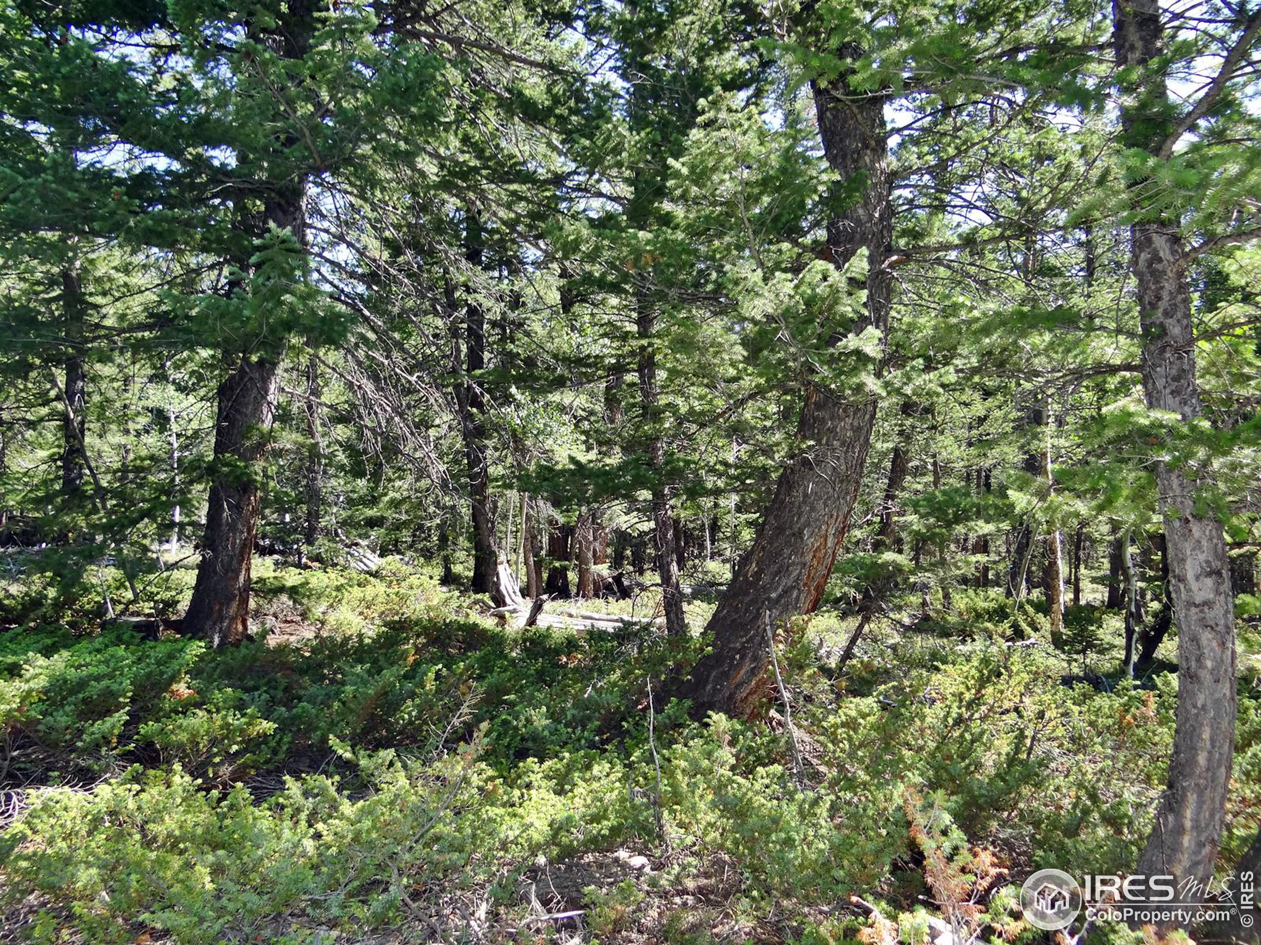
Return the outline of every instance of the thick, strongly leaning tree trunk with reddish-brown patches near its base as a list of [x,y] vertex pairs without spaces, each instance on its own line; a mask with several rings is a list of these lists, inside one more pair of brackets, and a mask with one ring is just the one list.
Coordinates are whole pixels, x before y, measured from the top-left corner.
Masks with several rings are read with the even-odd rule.
[[[840,53],[852,59],[860,50]],[[842,209],[828,223],[827,248],[839,267],[866,251],[868,318],[852,331],[874,325],[883,336],[892,295],[884,260],[893,238],[884,96],[851,93],[846,73],[827,84],[816,82],[813,92],[823,152],[840,174],[834,205]],[[857,195],[851,193],[855,181],[863,183]],[[691,698],[696,711],[753,713],[769,659],[765,620],[778,624],[818,606],[857,498],[875,408],[870,393],[808,386],[797,427],[799,452],[781,474],[753,547],[709,622],[712,651],[677,693]]]

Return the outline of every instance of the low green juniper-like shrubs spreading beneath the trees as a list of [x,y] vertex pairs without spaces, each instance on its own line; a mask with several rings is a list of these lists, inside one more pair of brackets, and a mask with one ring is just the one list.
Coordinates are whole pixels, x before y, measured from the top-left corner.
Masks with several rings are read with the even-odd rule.
[[[811,759],[801,780],[782,736],[724,716],[699,724],[660,697],[649,745],[646,680],[691,659],[660,640],[440,619],[456,598],[401,566],[266,580],[369,629],[221,651],[117,634],[0,638],[6,718],[20,719],[8,723],[20,748],[9,770],[112,774],[88,789],[28,790],[4,834],[11,893],[49,897],[37,939],[388,929],[469,901],[520,921],[517,883],[537,863],[662,840],[678,852],[667,886],[725,873],[749,917],[873,895],[924,843],[921,829],[960,876],[981,867],[960,859],[977,853],[947,839],[955,830],[1013,868],[1112,869],[1135,856],[1171,736],[1168,685],[1071,689],[1039,648],[977,633],[972,648],[907,660],[895,678],[871,669],[874,689],[854,696],[828,679],[807,634],[784,651],[806,696],[794,712]],[[990,606],[980,593],[961,600],[979,620]],[[1246,779],[1255,709],[1241,706]],[[38,752],[21,747],[37,736]],[[952,827],[908,814],[908,789],[933,798],[928,823]],[[585,893],[591,927],[610,940],[639,929],[658,895],[623,879]],[[1001,902],[985,921],[1002,919]],[[661,921],[682,941],[700,914],[690,915]],[[902,925],[914,936],[922,921],[908,912]],[[836,930],[822,917],[806,926]]]

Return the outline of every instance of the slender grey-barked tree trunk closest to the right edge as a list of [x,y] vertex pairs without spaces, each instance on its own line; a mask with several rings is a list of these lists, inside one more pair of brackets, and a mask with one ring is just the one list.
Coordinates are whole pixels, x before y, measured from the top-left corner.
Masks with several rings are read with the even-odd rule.
[[[1161,64],[1163,30],[1158,0],[1115,0],[1117,63],[1136,83],[1121,102],[1125,145],[1153,156],[1169,137],[1174,112]],[[1142,387],[1151,410],[1187,422],[1200,416],[1188,258],[1177,215],[1146,205],[1144,186],[1135,186],[1139,219],[1130,228]],[[1235,612],[1222,523],[1197,503],[1198,486],[1185,466],[1158,464],[1179,630],[1178,709],[1169,781],[1137,872],[1206,883],[1221,842],[1235,748]]]

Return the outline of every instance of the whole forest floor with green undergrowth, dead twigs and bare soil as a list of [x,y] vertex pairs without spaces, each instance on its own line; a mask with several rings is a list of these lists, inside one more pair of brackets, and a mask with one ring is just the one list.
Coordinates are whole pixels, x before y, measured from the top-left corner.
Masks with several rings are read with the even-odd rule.
[[[1052,640],[1001,592],[903,604],[844,670],[850,617],[781,634],[791,731],[769,687],[753,719],[670,702],[699,640],[507,629],[396,561],[260,562],[236,649],[100,630],[87,600],[0,629],[0,941],[1031,939],[1028,872],[1145,839],[1171,664],[1105,672],[1102,609]],[[1261,810],[1245,683],[1223,862]]]

